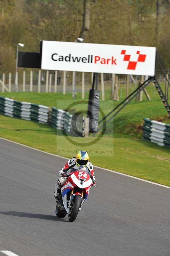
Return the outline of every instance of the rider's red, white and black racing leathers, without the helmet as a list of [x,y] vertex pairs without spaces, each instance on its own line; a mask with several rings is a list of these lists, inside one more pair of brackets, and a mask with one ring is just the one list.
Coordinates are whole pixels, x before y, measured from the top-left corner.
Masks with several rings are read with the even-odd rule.
[[[73,168],[73,169],[72,169]],[[78,170],[84,170],[85,172],[89,172],[90,177],[95,180],[95,175],[94,175],[94,169],[93,169],[93,165],[90,161],[88,161],[87,165],[85,167],[81,167],[78,166],[76,164],[76,157],[71,158],[66,165],[59,171],[59,176],[62,175],[63,172],[73,172],[73,171],[78,171]],[[64,183],[66,182],[67,178],[61,177],[58,179],[56,185],[55,185],[55,192],[54,192],[54,196],[57,197],[59,196],[59,190],[61,189],[61,187],[64,185]]]

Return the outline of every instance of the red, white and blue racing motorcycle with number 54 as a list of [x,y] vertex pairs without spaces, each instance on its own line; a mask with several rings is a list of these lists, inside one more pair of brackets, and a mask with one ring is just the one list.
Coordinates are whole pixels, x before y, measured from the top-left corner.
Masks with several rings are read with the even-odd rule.
[[64,218],[68,214],[68,220],[73,222],[87,199],[90,187],[94,184],[88,172],[72,169],[68,175],[66,183],[61,188],[59,201],[56,202],[55,213],[59,218]]

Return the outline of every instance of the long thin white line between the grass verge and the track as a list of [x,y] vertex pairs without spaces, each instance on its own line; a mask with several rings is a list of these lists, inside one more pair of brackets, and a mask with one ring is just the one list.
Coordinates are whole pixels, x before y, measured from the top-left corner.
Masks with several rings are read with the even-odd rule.
[[[8,139],[5,139],[5,138],[1,138],[1,140],[7,140],[7,141],[10,141],[12,143],[15,143],[15,144],[18,144],[18,145],[21,145],[23,147],[26,147],[26,148],[31,148],[31,149],[34,149],[36,151],[39,151],[39,152],[42,152],[42,153],[45,153],[45,154],[48,154],[48,155],[51,155],[51,156],[57,156],[57,157],[60,157],[60,158],[63,158],[63,159],[70,159],[70,158],[67,158],[67,157],[64,157],[64,156],[58,156],[58,155],[55,155],[55,154],[52,154],[52,153],[49,153],[49,152],[46,152],[46,151],[43,151],[43,150],[40,150],[40,149],[37,149],[37,148],[32,148],[32,147],[29,147],[27,145],[24,145],[24,144],[21,144],[19,142],[16,142],[16,141],[12,141],[12,140],[8,140]],[[122,176],[126,176],[126,177],[129,177],[129,178],[133,178],[135,180],[141,180],[141,181],[144,181],[144,182],[147,182],[147,183],[151,183],[153,185],[157,185],[159,187],[163,187],[163,188],[170,188],[166,185],[162,185],[162,184],[159,184],[159,183],[156,183],[156,182],[153,182],[153,181],[150,181],[150,180],[143,180],[141,178],[137,178],[135,176],[131,176],[131,175],[128,175],[128,174],[125,174],[125,173],[121,173],[121,172],[116,172],[116,171],[113,171],[113,170],[109,170],[109,169],[106,169],[106,168],[102,168],[100,166],[97,166],[97,165],[93,165],[94,167],[98,168],[98,169],[101,169],[101,170],[104,170],[104,171],[107,171],[107,172],[114,172],[114,173],[117,173],[117,174],[120,174]]]

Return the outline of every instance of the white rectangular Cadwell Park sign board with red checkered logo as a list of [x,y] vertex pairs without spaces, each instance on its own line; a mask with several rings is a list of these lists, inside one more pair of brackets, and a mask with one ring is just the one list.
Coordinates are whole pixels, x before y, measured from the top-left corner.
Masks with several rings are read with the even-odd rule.
[[42,41],[41,69],[155,74],[155,47]]

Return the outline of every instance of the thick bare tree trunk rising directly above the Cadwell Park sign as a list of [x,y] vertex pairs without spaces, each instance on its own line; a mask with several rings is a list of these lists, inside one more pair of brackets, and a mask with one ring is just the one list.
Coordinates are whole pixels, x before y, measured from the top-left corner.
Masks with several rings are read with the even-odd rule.
[[90,28],[90,0],[84,0],[83,26],[80,32],[80,38],[85,38]]

